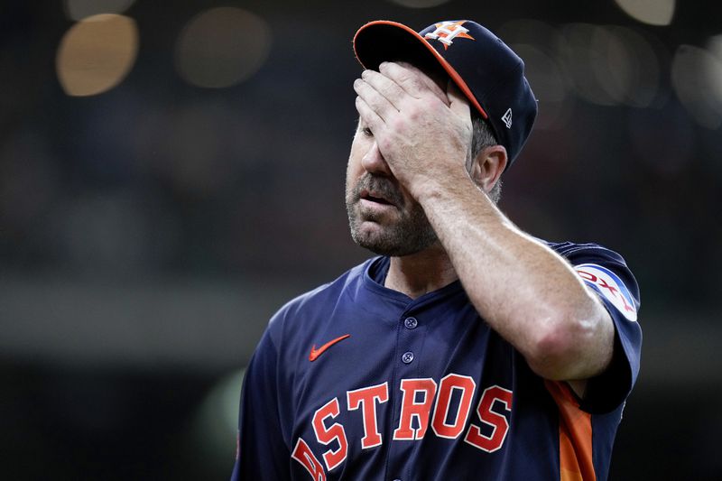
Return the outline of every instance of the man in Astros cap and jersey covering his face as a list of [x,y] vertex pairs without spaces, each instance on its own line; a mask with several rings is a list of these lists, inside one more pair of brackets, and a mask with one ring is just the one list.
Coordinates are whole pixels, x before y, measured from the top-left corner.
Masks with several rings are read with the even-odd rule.
[[496,208],[536,116],[522,60],[470,21],[368,23],[354,48],[347,211],[379,256],[271,320],[233,478],[605,479],[638,291],[618,254]]

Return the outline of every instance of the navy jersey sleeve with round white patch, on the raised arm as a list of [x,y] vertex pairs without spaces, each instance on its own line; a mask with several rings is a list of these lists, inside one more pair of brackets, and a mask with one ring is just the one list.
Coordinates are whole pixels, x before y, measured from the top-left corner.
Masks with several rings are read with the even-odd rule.
[[600,245],[564,245],[555,249],[597,293],[615,325],[615,347],[604,373],[588,380],[580,408],[591,413],[614,411],[632,391],[639,375],[642,328],[637,322],[639,287],[621,255]]

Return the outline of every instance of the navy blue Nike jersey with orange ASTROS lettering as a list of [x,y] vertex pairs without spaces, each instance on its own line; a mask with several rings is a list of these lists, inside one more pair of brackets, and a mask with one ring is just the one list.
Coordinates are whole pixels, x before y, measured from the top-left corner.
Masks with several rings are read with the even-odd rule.
[[604,247],[548,245],[616,327],[584,399],[535,375],[460,282],[412,300],[375,257],[271,320],[245,373],[233,479],[606,479],[639,371],[638,288]]

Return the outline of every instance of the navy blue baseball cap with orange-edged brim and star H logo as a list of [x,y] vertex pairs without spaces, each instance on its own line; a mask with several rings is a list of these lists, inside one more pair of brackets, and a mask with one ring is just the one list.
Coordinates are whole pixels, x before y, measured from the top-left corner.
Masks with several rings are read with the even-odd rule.
[[485,27],[470,20],[434,23],[415,32],[403,23],[366,23],[354,36],[356,59],[378,70],[383,61],[403,60],[420,69],[443,71],[492,126],[509,157],[522,150],[537,113],[524,77],[524,62]]

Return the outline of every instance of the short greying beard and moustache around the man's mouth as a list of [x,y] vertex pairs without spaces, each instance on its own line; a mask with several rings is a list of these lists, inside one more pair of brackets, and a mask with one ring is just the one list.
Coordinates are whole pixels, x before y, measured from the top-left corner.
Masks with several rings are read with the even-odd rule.
[[[387,213],[363,211],[360,205],[362,190],[383,196],[396,208],[398,217],[390,220]],[[366,174],[353,189],[347,185],[346,191],[348,226],[357,245],[375,254],[401,257],[419,253],[439,242],[421,204],[406,200],[391,180]],[[365,227],[367,222],[374,226]]]

